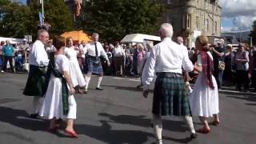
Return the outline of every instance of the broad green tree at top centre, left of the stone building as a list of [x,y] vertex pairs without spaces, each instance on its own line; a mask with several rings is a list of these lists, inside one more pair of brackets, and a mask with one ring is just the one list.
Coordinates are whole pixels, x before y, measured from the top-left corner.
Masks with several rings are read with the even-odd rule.
[[155,34],[164,6],[152,0],[92,0],[82,8],[78,27],[114,42],[126,34]]

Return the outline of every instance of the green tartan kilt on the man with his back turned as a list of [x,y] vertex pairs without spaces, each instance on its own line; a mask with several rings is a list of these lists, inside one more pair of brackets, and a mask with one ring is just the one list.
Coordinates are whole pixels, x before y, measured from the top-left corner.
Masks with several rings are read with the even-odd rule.
[[189,98],[182,77],[158,77],[154,85],[153,114],[191,115]]

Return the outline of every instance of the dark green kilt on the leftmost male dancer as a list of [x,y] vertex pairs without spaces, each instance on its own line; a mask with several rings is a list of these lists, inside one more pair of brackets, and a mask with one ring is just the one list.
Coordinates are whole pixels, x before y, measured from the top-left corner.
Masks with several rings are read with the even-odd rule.
[[26,81],[26,86],[23,91],[27,96],[43,97],[45,90],[45,67],[30,65],[29,77]]

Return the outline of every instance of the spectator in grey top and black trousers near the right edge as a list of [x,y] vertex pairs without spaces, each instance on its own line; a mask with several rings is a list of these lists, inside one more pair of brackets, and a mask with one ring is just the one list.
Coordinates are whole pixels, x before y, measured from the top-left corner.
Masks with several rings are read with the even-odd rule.
[[234,56],[234,64],[236,70],[237,85],[236,89],[241,91],[242,84],[244,85],[244,90],[249,91],[249,52],[245,50],[244,44],[240,43],[238,45],[238,52]]

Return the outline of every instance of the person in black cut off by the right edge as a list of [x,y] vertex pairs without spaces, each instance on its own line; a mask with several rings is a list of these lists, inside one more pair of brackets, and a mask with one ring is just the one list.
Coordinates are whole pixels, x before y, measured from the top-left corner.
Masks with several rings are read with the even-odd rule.
[[256,47],[255,46],[252,47],[249,71],[251,74],[252,86],[254,87],[253,91],[256,92]]

